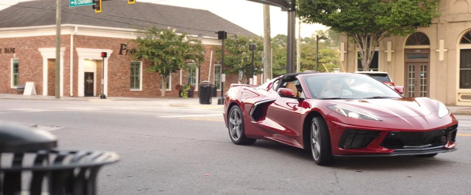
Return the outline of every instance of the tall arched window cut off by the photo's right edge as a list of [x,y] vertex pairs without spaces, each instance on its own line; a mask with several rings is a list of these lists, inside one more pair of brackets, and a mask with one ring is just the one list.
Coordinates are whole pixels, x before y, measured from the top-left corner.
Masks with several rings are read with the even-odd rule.
[[460,41],[460,89],[471,89],[471,30]]

